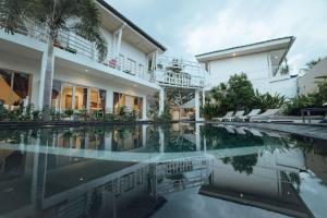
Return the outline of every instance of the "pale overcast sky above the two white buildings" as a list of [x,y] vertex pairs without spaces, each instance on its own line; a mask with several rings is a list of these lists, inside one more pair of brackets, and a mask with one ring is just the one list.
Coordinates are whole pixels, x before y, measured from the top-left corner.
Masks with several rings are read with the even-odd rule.
[[168,48],[195,55],[295,36],[289,64],[295,69],[327,56],[327,0],[107,0]]

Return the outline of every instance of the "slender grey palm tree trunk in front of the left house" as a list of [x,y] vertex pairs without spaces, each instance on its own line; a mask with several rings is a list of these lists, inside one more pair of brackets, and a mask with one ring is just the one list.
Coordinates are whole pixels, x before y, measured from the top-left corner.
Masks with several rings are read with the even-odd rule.
[[45,87],[44,87],[44,102],[43,102],[43,120],[50,120],[51,112],[51,94],[52,94],[52,80],[55,69],[55,53],[53,53],[53,38],[49,36],[48,50],[47,50],[47,66],[45,74]]

